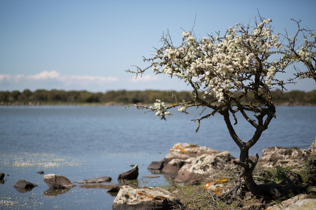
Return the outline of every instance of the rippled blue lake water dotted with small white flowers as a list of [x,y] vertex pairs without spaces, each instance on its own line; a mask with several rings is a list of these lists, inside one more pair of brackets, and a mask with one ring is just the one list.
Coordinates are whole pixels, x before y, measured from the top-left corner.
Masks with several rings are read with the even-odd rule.
[[[115,195],[106,189],[74,187],[60,195],[45,192],[45,174],[61,174],[72,182],[117,176],[139,165],[138,186],[167,186],[169,180],[149,179],[147,166],[163,159],[178,142],[195,143],[238,157],[239,149],[228,134],[221,115],[201,121],[197,133],[195,109],[167,121],[152,120],[154,113],[124,107],[32,106],[0,107],[0,183],[1,209],[111,209]],[[206,113],[206,111],[205,111]],[[250,139],[254,129],[240,118],[235,126],[242,140]],[[316,107],[277,107],[276,119],[250,150],[259,156],[272,146],[307,149],[316,137]],[[44,175],[45,175],[44,174]],[[38,184],[33,190],[18,192],[13,185],[20,179]],[[48,196],[49,195],[49,196]]]

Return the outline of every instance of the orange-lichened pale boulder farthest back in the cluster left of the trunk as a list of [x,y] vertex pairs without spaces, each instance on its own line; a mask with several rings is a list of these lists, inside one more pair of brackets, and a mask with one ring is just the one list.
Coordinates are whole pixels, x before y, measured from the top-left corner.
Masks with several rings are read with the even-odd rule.
[[165,156],[164,165],[172,159],[185,160],[189,157],[197,157],[203,154],[216,155],[219,151],[204,146],[189,143],[176,143],[170,148],[170,152]]

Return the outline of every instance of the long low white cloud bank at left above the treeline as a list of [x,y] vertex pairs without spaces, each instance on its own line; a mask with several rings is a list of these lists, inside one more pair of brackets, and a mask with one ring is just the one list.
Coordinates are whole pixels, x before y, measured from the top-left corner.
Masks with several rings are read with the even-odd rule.
[[7,81],[11,84],[17,84],[23,81],[57,81],[63,85],[105,85],[119,80],[117,77],[91,76],[91,75],[61,75],[57,71],[43,71],[38,74],[24,76],[23,74],[10,75],[0,74],[0,82]]

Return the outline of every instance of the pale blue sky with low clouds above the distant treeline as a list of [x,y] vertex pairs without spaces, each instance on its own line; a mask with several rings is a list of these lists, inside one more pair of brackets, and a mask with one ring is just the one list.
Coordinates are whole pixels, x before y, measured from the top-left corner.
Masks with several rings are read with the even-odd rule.
[[[0,90],[190,90],[183,81],[125,73],[144,67],[163,31],[177,44],[182,29],[201,37],[252,16],[271,18],[275,32],[316,29],[315,1],[9,1],[0,0]],[[303,67],[301,67],[303,68]],[[289,67],[287,79],[293,74]],[[311,79],[288,90],[316,89]]]

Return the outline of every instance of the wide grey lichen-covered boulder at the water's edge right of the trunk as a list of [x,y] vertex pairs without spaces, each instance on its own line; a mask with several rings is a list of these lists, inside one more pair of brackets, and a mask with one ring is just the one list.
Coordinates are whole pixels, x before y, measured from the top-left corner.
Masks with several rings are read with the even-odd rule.
[[298,147],[268,147],[262,150],[261,160],[275,161],[295,159],[299,161],[307,161],[310,152]]

